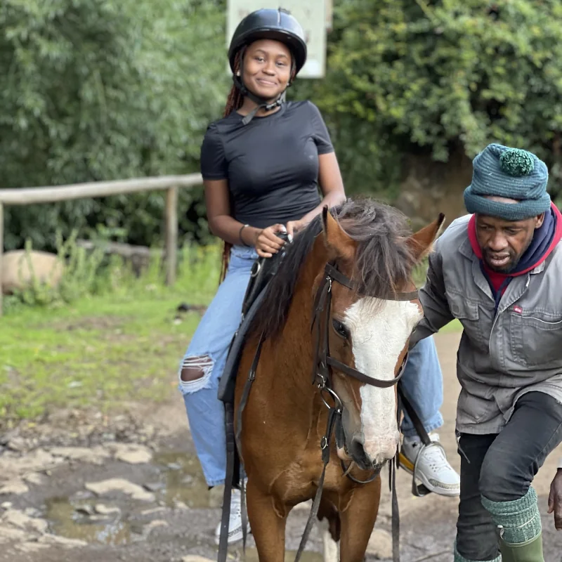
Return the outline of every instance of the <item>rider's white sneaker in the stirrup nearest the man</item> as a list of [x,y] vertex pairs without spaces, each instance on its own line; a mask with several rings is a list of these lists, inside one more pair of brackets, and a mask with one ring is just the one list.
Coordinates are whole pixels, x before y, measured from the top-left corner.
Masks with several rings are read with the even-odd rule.
[[[439,443],[437,433],[430,433],[429,438],[433,443]],[[421,457],[417,460],[420,450]],[[461,478],[447,461],[443,447],[424,447],[418,436],[405,437],[400,450],[400,466],[413,475],[416,461],[416,478],[428,490],[442,496],[460,495]]]

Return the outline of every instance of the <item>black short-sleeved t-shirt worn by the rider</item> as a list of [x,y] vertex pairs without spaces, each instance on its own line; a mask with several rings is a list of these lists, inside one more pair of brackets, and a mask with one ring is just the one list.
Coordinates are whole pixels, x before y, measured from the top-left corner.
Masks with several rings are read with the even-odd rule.
[[206,180],[228,180],[237,221],[266,228],[299,220],[318,206],[318,155],[333,150],[318,107],[289,102],[247,125],[237,112],[211,123],[201,172]]

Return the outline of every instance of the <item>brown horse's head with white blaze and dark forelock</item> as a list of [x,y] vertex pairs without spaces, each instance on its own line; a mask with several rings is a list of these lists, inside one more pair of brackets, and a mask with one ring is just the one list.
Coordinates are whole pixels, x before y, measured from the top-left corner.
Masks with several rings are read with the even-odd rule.
[[[329,355],[367,377],[390,381],[403,366],[410,334],[422,317],[415,294],[412,300],[400,296],[414,291],[412,269],[431,251],[445,217],[412,235],[405,216],[367,200],[348,201],[336,218],[327,209],[322,214],[323,244],[328,261],[353,289],[332,284]],[[322,274],[314,290],[320,282]],[[362,469],[393,458],[400,439],[396,385],[372,386],[333,369],[332,387],[344,405],[345,447],[339,457]]]

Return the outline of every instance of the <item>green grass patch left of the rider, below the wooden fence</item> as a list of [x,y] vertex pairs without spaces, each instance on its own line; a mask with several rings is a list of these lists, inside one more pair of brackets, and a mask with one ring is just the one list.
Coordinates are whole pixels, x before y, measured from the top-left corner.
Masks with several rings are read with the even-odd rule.
[[183,256],[173,288],[157,270],[140,279],[114,272],[107,294],[55,308],[12,307],[0,320],[0,419],[169,396],[201,315],[179,322],[176,308],[208,303],[219,267],[216,248],[199,249]]

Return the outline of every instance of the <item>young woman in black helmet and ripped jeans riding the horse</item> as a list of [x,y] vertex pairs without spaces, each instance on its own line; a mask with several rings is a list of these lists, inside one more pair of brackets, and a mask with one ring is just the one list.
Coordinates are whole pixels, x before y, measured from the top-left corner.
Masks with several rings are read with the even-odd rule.
[[[217,387],[240,324],[251,267],[258,256],[272,256],[282,247],[276,233],[286,229],[294,235],[322,207],[345,200],[334,148],[318,108],[308,101],[285,102],[285,90],[306,62],[299,23],[282,10],[251,13],[237,27],[228,56],[235,84],[225,117],[209,125],[205,135],[201,170],[209,227],[226,242],[230,263],[225,264],[226,277],[180,368],[190,431],[209,487],[225,480],[224,409]],[[405,391],[426,431],[433,431],[442,423],[438,412],[442,381],[431,339],[415,348],[410,366]],[[424,372],[425,392],[419,391],[415,377],[406,384],[409,368]],[[411,424],[405,436],[408,461],[413,464],[421,447]],[[426,465],[419,464],[426,485],[437,493],[457,494],[458,476],[443,452],[431,447],[426,460]],[[230,514],[229,542],[235,542],[242,538],[237,490]],[[217,525],[217,541],[219,530]]]

